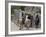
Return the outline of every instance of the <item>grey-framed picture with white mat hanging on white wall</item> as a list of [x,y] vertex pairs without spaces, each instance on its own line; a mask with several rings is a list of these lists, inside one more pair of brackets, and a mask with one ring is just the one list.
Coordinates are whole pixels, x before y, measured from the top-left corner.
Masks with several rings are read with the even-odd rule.
[[45,12],[42,2],[6,1],[6,35],[31,35],[44,33]]

